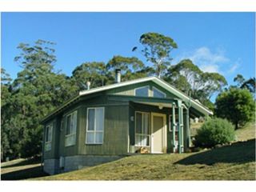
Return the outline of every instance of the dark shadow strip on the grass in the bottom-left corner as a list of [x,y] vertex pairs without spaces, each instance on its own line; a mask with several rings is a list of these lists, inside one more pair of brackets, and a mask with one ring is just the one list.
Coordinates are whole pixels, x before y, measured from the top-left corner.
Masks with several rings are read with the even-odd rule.
[[42,171],[41,166],[35,166],[24,170],[16,170],[6,174],[1,174],[1,180],[22,180],[26,178],[38,178],[48,176]]

